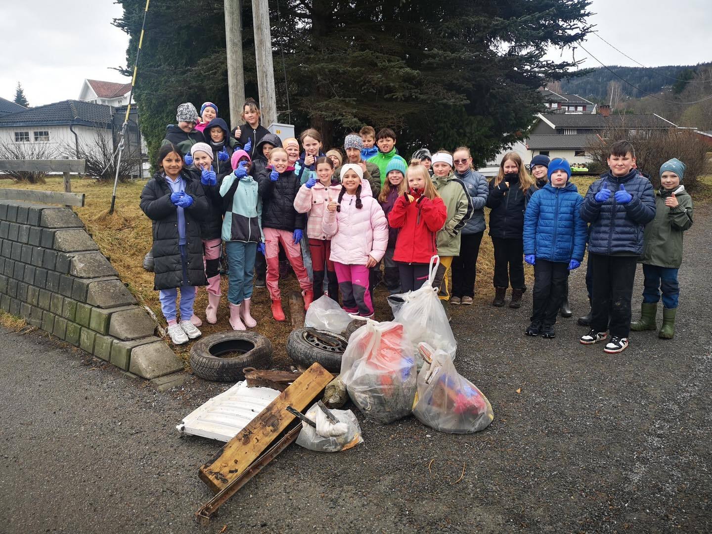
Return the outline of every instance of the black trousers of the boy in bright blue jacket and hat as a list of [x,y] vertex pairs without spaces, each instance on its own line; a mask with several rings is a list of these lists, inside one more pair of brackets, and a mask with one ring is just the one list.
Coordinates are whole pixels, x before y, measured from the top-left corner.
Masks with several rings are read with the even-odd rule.
[[534,263],[534,291],[532,323],[552,326],[556,323],[564,299],[566,284],[569,279],[569,263],[548,261],[537,258]]

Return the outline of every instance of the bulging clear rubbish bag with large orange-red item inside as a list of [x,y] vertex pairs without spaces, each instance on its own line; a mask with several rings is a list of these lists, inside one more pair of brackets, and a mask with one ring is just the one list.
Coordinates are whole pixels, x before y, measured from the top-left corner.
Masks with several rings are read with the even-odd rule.
[[410,414],[417,370],[400,323],[368,319],[352,333],[341,360],[341,379],[361,412],[379,423]]

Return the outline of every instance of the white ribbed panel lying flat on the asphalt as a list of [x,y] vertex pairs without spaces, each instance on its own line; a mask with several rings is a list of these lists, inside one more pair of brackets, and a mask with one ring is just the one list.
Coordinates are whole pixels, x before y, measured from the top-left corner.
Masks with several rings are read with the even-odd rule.
[[194,409],[176,429],[183,434],[230,441],[279,394],[276,389],[238,382]]

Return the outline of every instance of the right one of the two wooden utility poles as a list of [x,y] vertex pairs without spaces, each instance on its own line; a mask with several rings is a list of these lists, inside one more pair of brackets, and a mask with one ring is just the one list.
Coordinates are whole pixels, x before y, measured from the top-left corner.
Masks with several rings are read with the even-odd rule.
[[262,125],[268,128],[273,122],[277,122],[277,97],[274,88],[272,34],[269,27],[267,0],[252,0],[252,19],[255,29],[257,87],[260,92]]

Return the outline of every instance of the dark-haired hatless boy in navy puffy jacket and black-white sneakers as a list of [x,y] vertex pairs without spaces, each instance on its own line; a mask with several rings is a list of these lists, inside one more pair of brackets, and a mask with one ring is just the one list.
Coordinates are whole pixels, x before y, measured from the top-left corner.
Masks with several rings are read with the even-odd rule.
[[609,171],[591,184],[581,205],[590,223],[591,330],[583,345],[608,337],[605,352],[623,352],[630,334],[630,300],[635,268],[643,252],[645,225],[655,218],[655,192],[650,180],[635,168],[635,150],[628,141],[611,145]]

